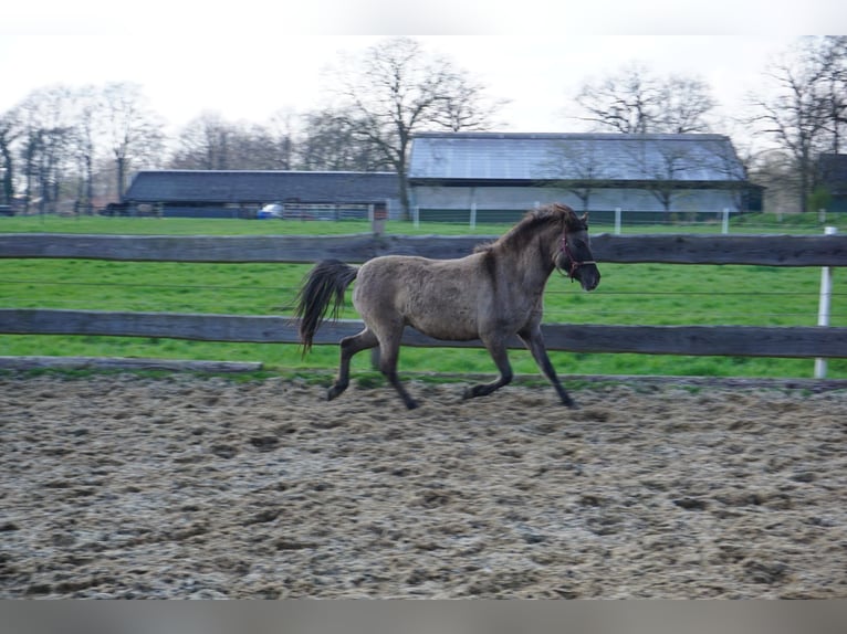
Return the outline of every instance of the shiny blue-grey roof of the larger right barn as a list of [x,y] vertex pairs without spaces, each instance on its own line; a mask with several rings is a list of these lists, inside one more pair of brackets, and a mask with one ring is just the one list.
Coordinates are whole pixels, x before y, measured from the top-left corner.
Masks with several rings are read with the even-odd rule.
[[412,182],[746,180],[722,135],[422,133],[409,161]]

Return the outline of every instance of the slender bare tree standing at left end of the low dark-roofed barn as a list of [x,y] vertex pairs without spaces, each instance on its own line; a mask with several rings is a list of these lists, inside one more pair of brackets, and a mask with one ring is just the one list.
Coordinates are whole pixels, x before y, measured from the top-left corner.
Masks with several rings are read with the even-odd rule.
[[104,131],[115,160],[117,197],[123,202],[133,165],[160,160],[163,124],[150,110],[138,84],[109,83],[103,88]]

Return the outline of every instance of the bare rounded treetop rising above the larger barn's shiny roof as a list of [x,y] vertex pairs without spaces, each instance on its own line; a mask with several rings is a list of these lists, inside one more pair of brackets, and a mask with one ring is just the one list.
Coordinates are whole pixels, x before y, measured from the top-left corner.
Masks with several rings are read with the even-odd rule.
[[715,106],[702,80],[658,77],[640,64],[585,84],[576,103],[585,110],[579,119],[625,134],[705,133]]

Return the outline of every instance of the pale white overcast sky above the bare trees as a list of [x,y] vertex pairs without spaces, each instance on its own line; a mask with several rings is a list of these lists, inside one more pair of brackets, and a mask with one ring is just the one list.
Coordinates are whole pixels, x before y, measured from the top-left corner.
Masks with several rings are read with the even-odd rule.
[[[688,3],[678,0],[621,7],[581,0],[579,8],[565,0],[297,0],[296,8],[266,0],[218,7],[179,0],[7,4],[0,21],[0,112],[51,84],[135,82],[174,130],[203,112],[264,123],[283,108],[316,107],[322,68],[337,64],[343,52],[399,34],[416,36],[493,97],[509,99],[501,115],[506,131],[579,129],[566,116],[578,88],[630,62],[705,80],[720,114],[732,116],[747,93],[761,89],[768,60],[799,34],[838,32],[838,25],[843,33],[847,27],[847,9],[839,6],[847,3],[825,0],[806,0],[803,10],[786,0],[750,7],[711,0],[693,12],[680,10]],[[744,34],[751,29],[766,34]]]

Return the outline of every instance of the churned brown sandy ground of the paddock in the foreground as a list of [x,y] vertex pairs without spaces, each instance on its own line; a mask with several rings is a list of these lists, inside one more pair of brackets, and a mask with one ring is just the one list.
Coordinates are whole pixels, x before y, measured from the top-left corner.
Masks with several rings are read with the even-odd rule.
[[847,391],[0,377],[4,598],[847,596]]

